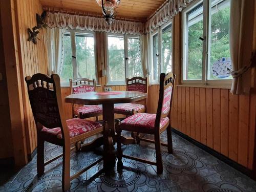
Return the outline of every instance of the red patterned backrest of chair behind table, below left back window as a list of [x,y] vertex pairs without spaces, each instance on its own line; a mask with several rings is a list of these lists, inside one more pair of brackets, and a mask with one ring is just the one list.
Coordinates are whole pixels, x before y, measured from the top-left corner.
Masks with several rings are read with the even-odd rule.
[[69,79],[71,94],[86,93],[96,91],[95,79],[90,80],[87,78]]

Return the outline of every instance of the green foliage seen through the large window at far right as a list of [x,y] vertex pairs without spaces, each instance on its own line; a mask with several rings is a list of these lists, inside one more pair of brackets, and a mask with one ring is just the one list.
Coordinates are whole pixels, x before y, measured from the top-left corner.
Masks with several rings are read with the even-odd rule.
[[[211,37],[210,37],[210,66],[222,57],[230,57],[229,52],[229,7],[226,7],[211,15]],[[203,21],[189,26],[188,28],[188,56],[187,74],[185,79],[202,78],[202,52]],[[210,73],[211,79],[213,77]]]

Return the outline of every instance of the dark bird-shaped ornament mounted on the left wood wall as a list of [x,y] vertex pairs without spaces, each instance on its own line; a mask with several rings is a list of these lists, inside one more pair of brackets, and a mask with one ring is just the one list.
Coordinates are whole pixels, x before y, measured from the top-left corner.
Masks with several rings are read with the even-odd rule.
[[41,15],[36,13],[36,26],[33,27],[32,30],[28,28],[28,34],[29,34],[28,41],[32,41],[34,44],[37,44],[37,39],[39,39],[37,37],[39,33],[39,29],[47,28],[47,25],[45,23],[46,15],[47,15],[46,11],[42,12]]

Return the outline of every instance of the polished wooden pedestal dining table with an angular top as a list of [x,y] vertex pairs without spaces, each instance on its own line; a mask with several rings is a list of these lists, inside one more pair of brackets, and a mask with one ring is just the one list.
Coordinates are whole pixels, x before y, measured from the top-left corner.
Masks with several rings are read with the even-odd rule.
[[[114,104],[130,103],[147,98],[146,93],[138,91],[117,91],[117,92],[87,92],[71,94],[65,98],[65,102],[76,104],[95,105],[102,104],[103,121],[106,122],[105,131],[102,137],[98,138],[98,143],[103,144],[103,167],[109,168],[115,166],[116,154],[114,148],[115,142],[115,116]],[[134,139],[123,137],[123,143],[134,143]],[[82,145],[82,151],[88,151],[86,145]]]

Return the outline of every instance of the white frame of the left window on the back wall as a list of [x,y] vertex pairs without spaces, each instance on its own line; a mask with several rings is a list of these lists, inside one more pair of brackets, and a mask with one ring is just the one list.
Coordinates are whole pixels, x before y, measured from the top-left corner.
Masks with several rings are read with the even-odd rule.
[[[93,35],[94,38],[94,63],[95,63],[95,79],[96,82],[98,82],[98,71],[97,71],[97,49],[96,49],[96,36],[95,36],[95,32],[92,31],[82,31],[82,30],[77,30],[77,29],[73,29],[73,30],[65,30],[64,31],[64,35],[65,34],[69,34],[70,35],[70,39],[71,39],[71,50],[72,50],[72,68],[73,68],[73,79],[77,79],[78,78],[78,70],[77,70],[77,55],[76,55],[76,34],[79,33],[80,35],[84,35],[87,36],[86,34],[90,34]],[[69,87],[70,84],[69,82],[60,82],[61,87]]]

